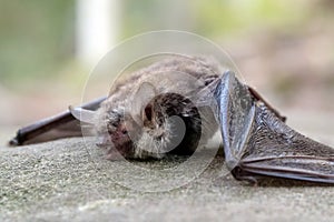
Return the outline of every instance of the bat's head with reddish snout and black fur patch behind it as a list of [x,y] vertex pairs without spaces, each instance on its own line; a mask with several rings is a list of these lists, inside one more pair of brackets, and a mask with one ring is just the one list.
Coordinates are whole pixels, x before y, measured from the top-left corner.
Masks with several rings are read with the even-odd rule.
[[107,148],[107,158],[112,160],[191,154],[202,133],[199,112],[189,99],[170,92],[157,94],[149,83],[141,84],[130,102],[107,99],[95,124],[101,138],[98,145]]

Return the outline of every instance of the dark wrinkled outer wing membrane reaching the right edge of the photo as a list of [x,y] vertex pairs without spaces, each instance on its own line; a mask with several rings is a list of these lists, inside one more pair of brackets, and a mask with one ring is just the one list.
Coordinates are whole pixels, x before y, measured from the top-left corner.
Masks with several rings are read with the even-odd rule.
[[261,174],[334,183],[334,149],[293,129],[264,104],[256,118],[238,168],[244,174]]

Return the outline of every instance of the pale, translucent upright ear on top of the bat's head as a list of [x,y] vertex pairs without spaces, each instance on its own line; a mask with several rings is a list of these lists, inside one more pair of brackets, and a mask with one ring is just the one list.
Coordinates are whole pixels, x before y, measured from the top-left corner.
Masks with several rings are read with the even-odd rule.
[[156,95],[157,95],[157,89],[151,83],[143,82],[140,84],[139,89],[136,91],[136,93],[132,97],[132,101],[130,105],[131,117],[137,123],[141,124],[143,110],[146,108],[149,101]]

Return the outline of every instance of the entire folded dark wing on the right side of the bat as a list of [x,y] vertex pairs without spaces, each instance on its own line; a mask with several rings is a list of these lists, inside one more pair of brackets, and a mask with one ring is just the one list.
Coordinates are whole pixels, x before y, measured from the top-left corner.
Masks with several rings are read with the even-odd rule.
[[216,93],[226,164],[234,176],[334,183],[334,149],[287,127],[284,118],[246,88],[226,72]]

